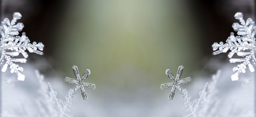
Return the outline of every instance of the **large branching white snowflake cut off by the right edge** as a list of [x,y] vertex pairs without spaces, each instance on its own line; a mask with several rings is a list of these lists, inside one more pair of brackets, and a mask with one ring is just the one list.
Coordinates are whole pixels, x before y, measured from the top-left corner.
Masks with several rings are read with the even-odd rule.
[[[238,75],[240,72],[245,73],[246,66],[249,67],[251,72],[254,72],[254,68],[251,64],[256,65],[256,41],[254,35],[256,34],[256,26],[252,18],[248,18],[246,21],[243,19],[243,14],[238,12],[234,17],[239,20],[239,23],[234,23],[232,27],[237,31],[238,36],[234,36],[234,33],[231,32],[230,36],[227,38],[226,43],[213,43],[213,55],[220,53],[225,53],[228,50],[229,54],[227,55],[230,59],[230,63],[240,62],[237,67],[233,68],[233,71],[236,72],[231,76],[231,80],[238,80]],[[234,54],[240,56],[240,58],[232,58]]]

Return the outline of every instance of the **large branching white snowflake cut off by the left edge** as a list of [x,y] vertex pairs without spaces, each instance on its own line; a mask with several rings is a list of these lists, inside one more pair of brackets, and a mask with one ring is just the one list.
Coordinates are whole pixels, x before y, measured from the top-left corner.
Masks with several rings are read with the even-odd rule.
[[[16,12],[13,13],[13,19],[4,18],[0,26],[0,65],[5,64],[2,67],[2,72],[7,70],[8,65],[10,66],[11,73],[15,72],[18,74],[18,80],[25,80],[25,76],[20,72],[23,71],[22,67],[19,67],[18,64],[14,62],[26,63],[27,57],[29,56],[25,50],[29,52],[34,52],[39,55],[43,55],[43,43],[33,42],[30,43],[28,37],[26,37],[25,32],[22,33],[22,36],[19,35],[19,31],[22,30],[24,25],[22,23],[17,23],[17,20],[21,18],[21,14]],[[40,51],[39,51],[40,50]],[[18,58],[19,54],[22,54],[24,58]],[[17,56],[13,58],[13,56]]]

